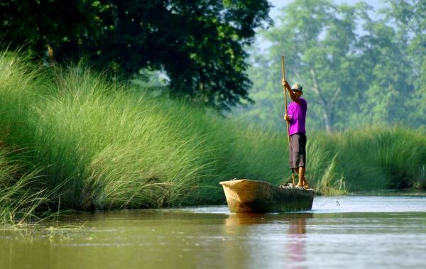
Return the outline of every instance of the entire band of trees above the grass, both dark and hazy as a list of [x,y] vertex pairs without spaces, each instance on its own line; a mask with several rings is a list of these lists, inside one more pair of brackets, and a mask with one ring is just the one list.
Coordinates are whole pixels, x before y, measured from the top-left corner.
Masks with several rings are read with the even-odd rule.
[[[308,129],[426,125],[426,1],[1,1],[3,43],[282,129],[280,55]],[[65,9],[67,12],[65,13]],[[268,48],[253,45],[258,32]],[[254,102],[255,101],[255,102]],[[241,107],[241,104],[243,107]]]

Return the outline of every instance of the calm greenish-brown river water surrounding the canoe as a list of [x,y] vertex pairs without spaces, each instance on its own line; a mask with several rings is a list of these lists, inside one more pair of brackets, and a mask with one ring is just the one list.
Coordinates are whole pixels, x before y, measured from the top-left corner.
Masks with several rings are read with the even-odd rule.
[[2,229],[0,268],[426,268],[426,197],[315,197],[291,214],[79,213],[51,225]]

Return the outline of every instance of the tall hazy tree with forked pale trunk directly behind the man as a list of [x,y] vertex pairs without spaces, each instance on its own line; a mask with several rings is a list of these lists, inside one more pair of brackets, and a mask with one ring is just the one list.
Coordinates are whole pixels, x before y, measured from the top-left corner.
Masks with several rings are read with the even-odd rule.
[[[288,79],[305,87],[310,99],[308,115],[317,128],[331,131],[344,127],[342,119],[349,110],[340,107],[357,106],[359,92],[352,87],[357,83],[356,19],[366,9],[362,4],[337,6],[326,0],[296,0],[282,9],[279,26],[263,33],[272,43],[268,60],[261,66],[271,73],[269,81],[275,82],[275,89],[270,90],[280,87],[280,55],[284,54]],[[282,99],[280,93],[280,102]]]

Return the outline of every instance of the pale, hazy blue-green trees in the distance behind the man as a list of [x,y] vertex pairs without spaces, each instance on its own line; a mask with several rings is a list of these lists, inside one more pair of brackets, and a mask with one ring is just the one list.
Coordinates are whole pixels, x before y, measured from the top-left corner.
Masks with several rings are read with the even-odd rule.
[[[304,86],[307,130],[342,130],[368,123],[425,125],[425,1],[389,1],[383,11],[332,1],[285,6],[261,32],[271,43],[254,55],[249,77],[256,104],[241,118],[285,128],[280,55],[287,79]],[[295,16],[297,14],[297,16]],[[369,15],[381,14],[374,19]]]

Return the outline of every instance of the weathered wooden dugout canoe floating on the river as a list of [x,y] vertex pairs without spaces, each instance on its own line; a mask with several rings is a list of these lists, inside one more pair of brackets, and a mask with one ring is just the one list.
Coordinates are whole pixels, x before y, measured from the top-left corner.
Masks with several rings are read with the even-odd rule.
[[277,187],[260,180],[219,182],[232,213],[295,212],[312,209],[314,190]]

